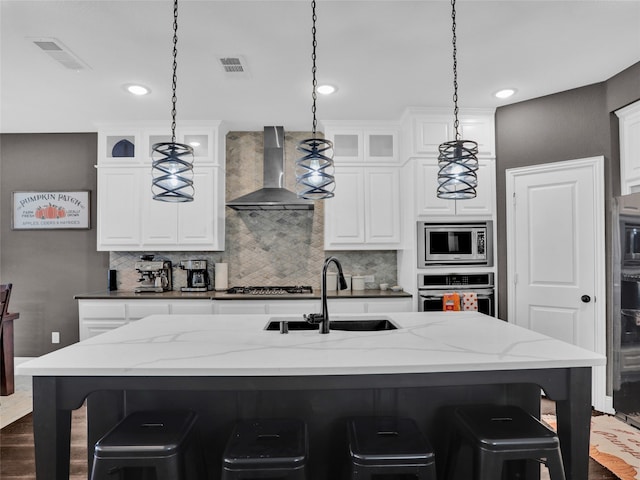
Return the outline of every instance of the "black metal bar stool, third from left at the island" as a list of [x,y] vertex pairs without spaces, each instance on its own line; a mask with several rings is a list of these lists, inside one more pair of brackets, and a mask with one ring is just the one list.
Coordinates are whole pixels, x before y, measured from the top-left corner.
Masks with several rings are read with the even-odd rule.
[[433,449],[410,418],[356,417],[347,422],[351,478],[436,480]]

